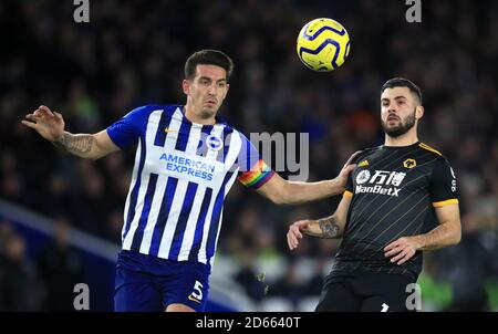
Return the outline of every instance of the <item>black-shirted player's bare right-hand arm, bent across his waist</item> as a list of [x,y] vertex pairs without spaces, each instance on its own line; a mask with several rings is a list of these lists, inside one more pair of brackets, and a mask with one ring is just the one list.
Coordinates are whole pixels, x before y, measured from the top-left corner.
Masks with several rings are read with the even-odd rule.
[[418,250],[436,250],[460,242],[461,225],[458,205],[438,207],[435,211],[439,221],[438,227],[424,234],[400,238],[384,248],[385,257],[393,257],[391,262],[403,264]]

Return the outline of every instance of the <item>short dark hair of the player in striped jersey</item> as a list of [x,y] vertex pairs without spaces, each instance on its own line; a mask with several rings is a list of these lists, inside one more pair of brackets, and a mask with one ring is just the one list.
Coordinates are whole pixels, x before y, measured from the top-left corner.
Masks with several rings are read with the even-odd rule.
[[185,62],[185,77],[194,79],[196,76],[196,67],[198,64],[216,65],[227,71],[227,80],[234,71],[232,60],[221,51],[218,50],[200,50],[194,52]]

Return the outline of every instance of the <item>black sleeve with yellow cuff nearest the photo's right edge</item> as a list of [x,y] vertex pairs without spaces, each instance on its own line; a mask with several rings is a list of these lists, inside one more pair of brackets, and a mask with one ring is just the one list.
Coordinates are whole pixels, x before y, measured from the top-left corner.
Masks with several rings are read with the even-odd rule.
[[433,207],[458,203],[456,175],[446,158],[436,161],[430,177],[430,200]]

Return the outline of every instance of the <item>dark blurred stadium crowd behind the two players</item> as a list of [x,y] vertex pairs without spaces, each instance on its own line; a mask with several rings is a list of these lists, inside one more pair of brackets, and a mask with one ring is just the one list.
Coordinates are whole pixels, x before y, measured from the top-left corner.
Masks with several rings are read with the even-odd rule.
[[[136,106],[184,102],[183,65],[199,49],[235,60],[221,108],[229,123],[247,135],[310,134],[310,180],[334,177],[351,153],[382,144],[380,87],[405,76],[424,94],[421,139],[456,170],[464,227],[460,244],[426,253],[424,307],[496,311],[498,3],[422,2],[422,23],[407,23],[404,1],[103,0],[90,1],[90,23],[76,24],[72,1],[2,1],[0,198],[58,220],[59,240],[70,225],[118,243],[134,150],[74,158],[20,119],[44,104],[72,133],[94,133]],[[294,50],[301,27],[318,17],[343,23],[352,40],[345,64],[329,74],[305,69]],[[289,310],[314,302],[339,243],[304,239],[291,253],[287,227],[330,215],[336,202],[277,207],[236,185],[215,273],[237,282],[256,309],[269,299]],[[0,310],[72,307],[48,291],[60,300],[58,289],[81,281],[84,268],[75,250],[55,244],[27,258],[22,234],[0,222]],[[71,265],[54,265],[58,257]]]

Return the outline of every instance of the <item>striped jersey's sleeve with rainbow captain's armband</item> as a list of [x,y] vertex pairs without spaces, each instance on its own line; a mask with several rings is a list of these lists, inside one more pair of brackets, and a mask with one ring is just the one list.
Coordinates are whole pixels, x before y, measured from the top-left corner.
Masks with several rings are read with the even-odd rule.
[[247,188],[259,189],[274,176],[274,171],[264,164],[255,145],[245,135],[240,134],[240,137],[242,144],[236,161],[239,168],[237,179]]

